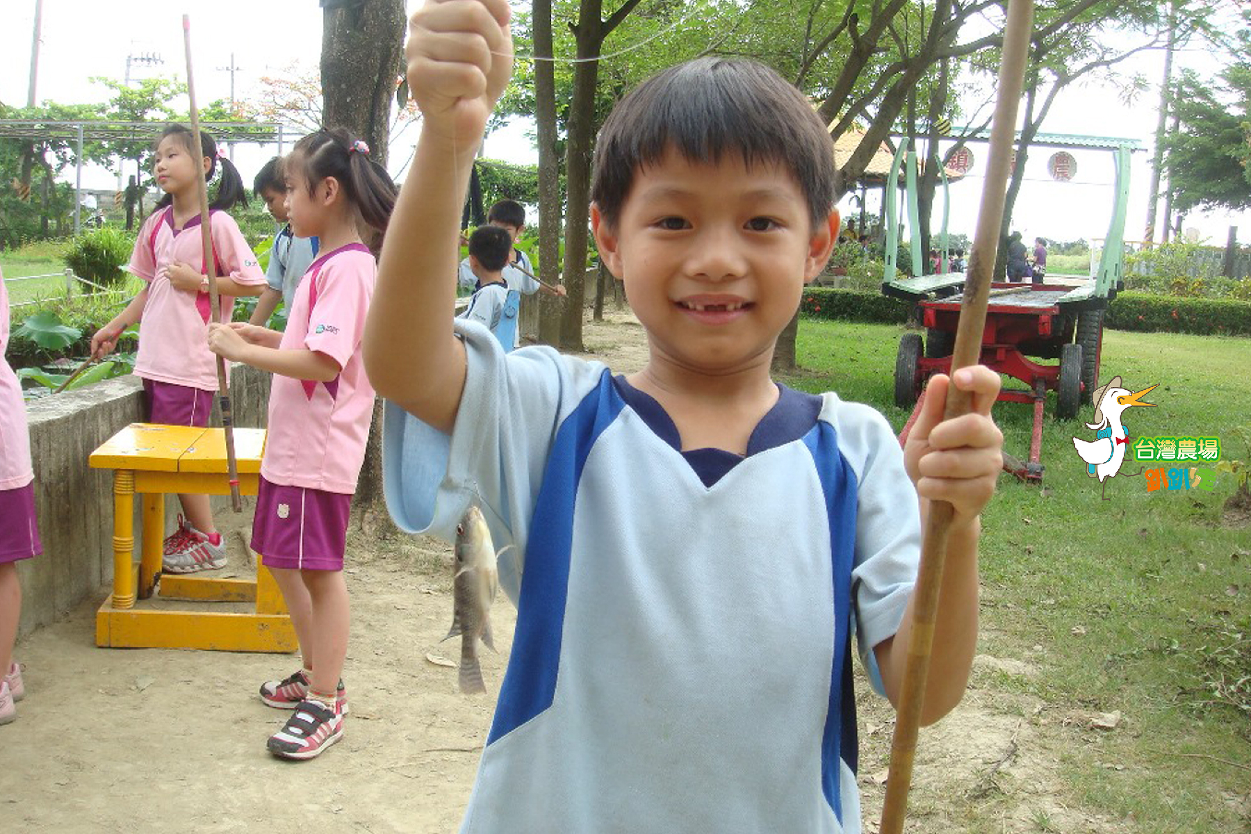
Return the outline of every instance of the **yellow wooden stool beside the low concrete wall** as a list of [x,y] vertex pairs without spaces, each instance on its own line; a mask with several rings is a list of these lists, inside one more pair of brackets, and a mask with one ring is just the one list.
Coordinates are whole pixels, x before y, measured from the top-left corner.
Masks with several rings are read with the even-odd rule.
[[[239,490],[255,495],[264,429],[235,429]],[[95,616],[95,644],[114,648],[294,651],[295,629],[269,569],[256,579],[203,574],[161,575],[165,493],[228,495],[223,429],[131,423],[91,453],[95,469],[113,474],[113,595]],[[143,495],[143,546],[134,563],[134,500]],[[198,601],[255,601],[250,613],[135,608],[158,586],[163,598]]]

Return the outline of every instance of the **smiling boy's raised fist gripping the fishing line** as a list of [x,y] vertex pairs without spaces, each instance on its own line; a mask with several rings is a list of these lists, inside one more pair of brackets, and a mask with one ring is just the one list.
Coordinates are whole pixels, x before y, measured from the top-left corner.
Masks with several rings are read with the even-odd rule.
[[423,129],[477,149],[513,71],[508,0],[427,0],[408,21],[408,89]]

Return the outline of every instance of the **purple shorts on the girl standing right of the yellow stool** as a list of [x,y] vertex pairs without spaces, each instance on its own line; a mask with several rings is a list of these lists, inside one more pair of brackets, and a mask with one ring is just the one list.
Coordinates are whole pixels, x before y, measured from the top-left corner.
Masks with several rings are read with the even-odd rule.
[[266,568],[343,570],[350,511],[352,495],[280,486],[261,478],[251,549]]

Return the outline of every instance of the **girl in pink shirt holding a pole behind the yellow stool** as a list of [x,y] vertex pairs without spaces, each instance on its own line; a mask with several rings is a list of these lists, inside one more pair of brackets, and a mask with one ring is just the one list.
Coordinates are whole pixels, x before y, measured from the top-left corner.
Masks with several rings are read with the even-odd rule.
[[[218,275],[221,320],[229,321],[235,296],[259,295],[265,274],[248,241],[225,209],[248,204],[248,193],[230,160],[218,158],[216,144],[200,134],[201,154],[183,125],[170,125],[156,143],[156,184],[165,196],[156,204],[135,240],[128,269],[148,286],[91,338],[91,355],[103,356],[121,331],[143,319],[135,374],[144,380],[148,421],[206,426],[218,390],[216,359],[204,346],[210,321],[208,266],[200,230],[199,184],[221,178],[210,205],[213,256]],[[181,494],[178,530],[165,539],[163,570],[176,574],[216,570],[226,564],[226,548],[213,523],[208,495]]]

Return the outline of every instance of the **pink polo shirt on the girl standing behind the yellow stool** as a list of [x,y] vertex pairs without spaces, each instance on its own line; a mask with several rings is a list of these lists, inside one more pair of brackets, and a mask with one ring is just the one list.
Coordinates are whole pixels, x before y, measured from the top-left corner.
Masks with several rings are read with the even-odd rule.
[[[239,225],[225,211],[210,213],[213,253],[216,274],[238,284],[264,286],[265,274],[256,263]],[[204,245],[199,215],[174,229],[174,209],[156,211],[144,223],[135,240],[128,269],[148,281],[148,303],[144,305],[139,333],[139,355],[135,374],[158,383],[173,383],[201,390],[216,390],[216,356],[205,340],[205,325],[211,313],[208,293],[175,289],[165,274],[166,268],[181,261],[204,269]],[[234,296],[220,295],[221,320],[229,321]]]

